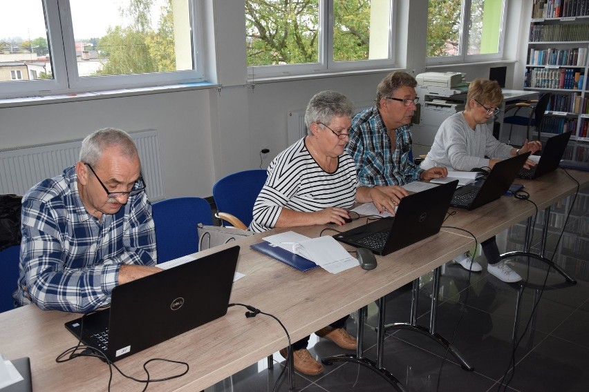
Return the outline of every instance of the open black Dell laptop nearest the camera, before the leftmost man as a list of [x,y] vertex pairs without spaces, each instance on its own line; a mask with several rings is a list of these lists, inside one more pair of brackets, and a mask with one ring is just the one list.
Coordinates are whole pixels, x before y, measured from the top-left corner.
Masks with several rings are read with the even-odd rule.
[[[113,288],[111,306],[84,316],[82,343],[112,362],[227,313],[239,246]],[[66,322],[80,338],[82,317]]]

